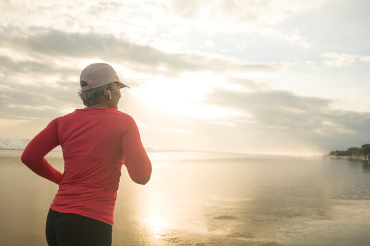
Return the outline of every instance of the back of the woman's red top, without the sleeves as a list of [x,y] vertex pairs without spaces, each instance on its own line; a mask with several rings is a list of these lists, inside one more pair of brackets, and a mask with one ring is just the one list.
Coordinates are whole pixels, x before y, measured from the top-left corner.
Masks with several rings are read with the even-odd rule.
[[[130,115],[97,107],[76,109],[56,119],[64,173],[51,209],[113,223],[116,191],[125,161],[121,141],[133,123]],[[132,141],[135,139],[127,139]]]

